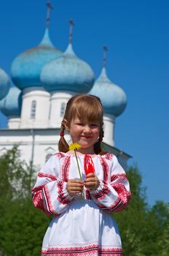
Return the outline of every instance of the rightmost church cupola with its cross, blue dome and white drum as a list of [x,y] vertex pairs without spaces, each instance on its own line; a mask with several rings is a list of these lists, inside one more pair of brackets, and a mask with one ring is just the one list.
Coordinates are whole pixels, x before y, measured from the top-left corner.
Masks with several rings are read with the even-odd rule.
[[95,80],[94,86],[89,92],[101,99],[104,110],[105,138],[104,141],[114,146],[114,126],[115,118],[122,114],[127,105],[127,97],[125,91],[119,86],[112,83],[106,74],[106,51],[104,47],[103,53],[103,69],[101,75]]

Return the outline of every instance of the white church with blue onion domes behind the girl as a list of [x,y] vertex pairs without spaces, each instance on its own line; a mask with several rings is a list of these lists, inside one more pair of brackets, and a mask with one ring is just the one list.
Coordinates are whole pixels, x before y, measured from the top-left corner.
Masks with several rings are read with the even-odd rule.
[[[106,74],[106,47],[103,68],[95,79],[92,67],[72,46],[73,20],[66,50],[55,48],[49,34],[50,1],[47,3],[47,26],[35,48],[25,50],[12,61],[11,80],[0,67],[0,111],[7,116],[7,128],[0,129],[0,156],[18,145],[27,163],[41,167],[58,151],[60,124],[66,102],[75,94],[93,94],[101,99],[104,110],[103,150],[117,156],[123,167],[130,155],[114,143],[116,118],[127,105],[125,92]],[[68,134],[65,136],[71,143]]]

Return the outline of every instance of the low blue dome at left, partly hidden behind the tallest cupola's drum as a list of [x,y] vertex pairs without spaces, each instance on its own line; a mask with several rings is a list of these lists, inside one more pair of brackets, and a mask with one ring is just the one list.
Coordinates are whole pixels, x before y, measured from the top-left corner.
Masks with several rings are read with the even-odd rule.
[[11,87],[4,99],[0,100],[0,110],[5,116],[20,117],[22,95],[17,87]]

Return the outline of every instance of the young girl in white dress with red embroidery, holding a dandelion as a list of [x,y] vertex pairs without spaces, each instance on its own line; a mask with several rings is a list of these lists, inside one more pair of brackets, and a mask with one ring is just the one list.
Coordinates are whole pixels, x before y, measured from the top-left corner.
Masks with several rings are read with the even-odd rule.
[[[71,135],[68,149],[64,130]],[[121,239],[112,212],[130,200],[125,171],[114,154],[101,151],[103,107],[98,97],[79,94],[69,99],[60,129],[59,151],[39,172],[34,205],[54,218],[42,245],[43,256],[122,256]]]

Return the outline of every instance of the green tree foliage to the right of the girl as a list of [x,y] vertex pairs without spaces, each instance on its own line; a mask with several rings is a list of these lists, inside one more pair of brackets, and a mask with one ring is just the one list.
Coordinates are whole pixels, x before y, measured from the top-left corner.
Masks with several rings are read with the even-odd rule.
[[124,256],[169,255],[169,208],[157,202],[152,208],[146,203],[146,189],[141,187],[137,166],[127,170],[132,199],[120,213],[114,214],[122,236]]

